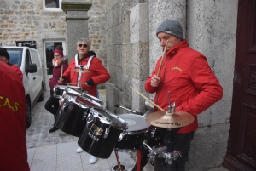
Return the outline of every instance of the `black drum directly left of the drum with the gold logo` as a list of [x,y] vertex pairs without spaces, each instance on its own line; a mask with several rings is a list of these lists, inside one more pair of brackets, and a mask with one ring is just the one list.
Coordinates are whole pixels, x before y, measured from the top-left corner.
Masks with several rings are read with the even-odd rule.
[[77,99],[75,95],[64,94],[62,96],[55,127],[67,134],[79,137],[86,124],[90,106]]

